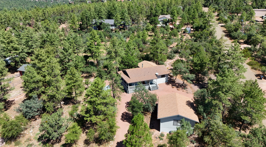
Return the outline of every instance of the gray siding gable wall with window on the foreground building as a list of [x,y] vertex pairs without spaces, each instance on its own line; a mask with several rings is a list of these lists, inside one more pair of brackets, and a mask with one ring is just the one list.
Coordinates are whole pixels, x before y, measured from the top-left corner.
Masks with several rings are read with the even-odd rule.
[[[173,125],[173,120],[181,120],[184,117],[182,116],[172,116],[167,118],[160,119],[160,132],[169,133],[170,131],[175,131],[177,126]],[[195,121],[185,118],[186,121],[189,121],[191,127],[194,128]]]

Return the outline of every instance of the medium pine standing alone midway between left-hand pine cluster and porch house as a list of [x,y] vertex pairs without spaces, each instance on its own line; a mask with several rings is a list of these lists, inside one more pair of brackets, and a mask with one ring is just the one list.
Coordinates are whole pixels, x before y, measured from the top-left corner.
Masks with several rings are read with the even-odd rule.
[[77,98],[77,96],[81,96],[85,90],[81,74],[74,67],[71,67],[67,71],[67,75],[65,76],[65,83],[66,92],[70,97],[74,93],[74,97]]

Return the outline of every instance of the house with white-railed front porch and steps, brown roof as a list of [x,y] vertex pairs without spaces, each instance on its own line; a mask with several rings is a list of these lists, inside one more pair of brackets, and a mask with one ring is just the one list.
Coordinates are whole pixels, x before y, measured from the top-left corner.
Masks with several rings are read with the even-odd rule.
[[168,82],[169,71],[164,65],[156,65],[125,69],[119,71],[118,74],[121,75],[121,85],[126,93],[133,93],[138,86],[138,82],[151,91],[159,89],[158,84]]

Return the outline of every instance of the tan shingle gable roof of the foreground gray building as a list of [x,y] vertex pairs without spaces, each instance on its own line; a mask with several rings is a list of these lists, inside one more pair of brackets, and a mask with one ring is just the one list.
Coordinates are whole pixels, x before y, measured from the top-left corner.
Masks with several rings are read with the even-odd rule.
[[176,115],[199,122],[192,98],[183,96],[179,93],[170,93],[160,96],[158,98],[157,118],[160,119]]

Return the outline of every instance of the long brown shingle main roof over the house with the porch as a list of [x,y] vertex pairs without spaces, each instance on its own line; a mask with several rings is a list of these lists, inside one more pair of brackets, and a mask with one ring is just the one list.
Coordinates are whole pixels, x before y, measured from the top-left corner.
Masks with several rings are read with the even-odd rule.
[[155,75],[156,73],[158,73],[158,75],[164,75],[169,74],[169,71],[166,66],[158,65],[135,69],[125,69],[118,72],[118,74],[121,74],[121,77],[124,78],[127,83],[157,79]]

